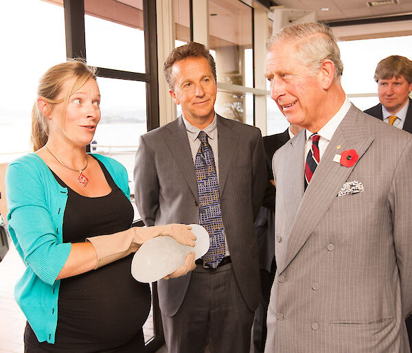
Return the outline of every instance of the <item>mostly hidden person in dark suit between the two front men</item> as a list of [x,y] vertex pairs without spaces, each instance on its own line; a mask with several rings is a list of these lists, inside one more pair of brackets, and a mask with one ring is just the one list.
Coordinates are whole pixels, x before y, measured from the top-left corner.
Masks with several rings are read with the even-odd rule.
[[253,350],[255,353],[263,353],[266,343],[266,317],[268,312],[271,287],[275,278],[275,186],[272,172],[272,157],[278,148],[281,148],[302,128],[290,125],[283,133],[263,137],[266,163],[268,166],[269,185],[266,189],[264,202],[260,207],[258,217],[253,225],[255,235],[258,238],[259,266],[260,266],[260,301],[255,311],[253,320]]

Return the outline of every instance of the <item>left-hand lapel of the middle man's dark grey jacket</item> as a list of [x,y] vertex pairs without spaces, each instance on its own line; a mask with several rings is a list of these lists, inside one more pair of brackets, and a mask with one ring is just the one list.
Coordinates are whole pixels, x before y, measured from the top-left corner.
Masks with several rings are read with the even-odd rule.
[[195,198],[198,200],[198,191],[196,184],[196,172],[192,151],[190,150],[189,137],[187,137],[186,127],[182,117],[179,117],[168,126],[170,134],[165,135],[165,141],[169,146],[170,153],[185,177],[187,185]]

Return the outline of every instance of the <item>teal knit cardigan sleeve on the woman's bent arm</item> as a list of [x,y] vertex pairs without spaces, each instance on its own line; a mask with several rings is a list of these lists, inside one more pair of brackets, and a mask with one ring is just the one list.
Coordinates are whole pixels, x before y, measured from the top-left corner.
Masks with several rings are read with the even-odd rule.
[[[8,223],[16,249],[27,266],[45,283],[53,284],[71,249],[62,243],[62,214],[56,223],[53,214],[60,211],[51,192],[58,192],[47,182],[44,170],[29,158],[10,163],[5,186],[8,199]],[[56,205],[51,205],[56,203]],[[54,209],[56,208],[56,209]]]

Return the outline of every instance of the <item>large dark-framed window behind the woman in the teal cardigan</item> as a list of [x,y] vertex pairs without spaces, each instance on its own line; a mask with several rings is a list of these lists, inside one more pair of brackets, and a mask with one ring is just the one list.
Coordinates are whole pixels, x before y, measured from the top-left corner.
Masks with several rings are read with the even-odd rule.
[[[30,151],[38,78],[52,65],[80,56],[98,67],[102,95],[102,119],[90,149],[120,161],[133,192],[139,136],[159,126],[155,9],[153,0],[3,1],[0,43],[7,54],[0,59],[5,82],[0,88],[0,163]],[[144,325],[148,352],[161,343],[155,337],[161,333],[155,286],[152,293],[155,308]],[[7,327],[2,319],[10,322],[3,310],[0,327]]]

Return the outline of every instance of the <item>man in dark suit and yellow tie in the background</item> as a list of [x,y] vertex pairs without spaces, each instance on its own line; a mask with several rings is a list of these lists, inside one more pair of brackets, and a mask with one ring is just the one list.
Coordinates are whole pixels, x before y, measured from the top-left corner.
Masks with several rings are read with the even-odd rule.
[[365,113],[412,133],[412,61],[404,56],[388,56],[378,63],[374,78],[380,103]]

